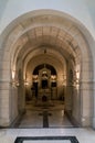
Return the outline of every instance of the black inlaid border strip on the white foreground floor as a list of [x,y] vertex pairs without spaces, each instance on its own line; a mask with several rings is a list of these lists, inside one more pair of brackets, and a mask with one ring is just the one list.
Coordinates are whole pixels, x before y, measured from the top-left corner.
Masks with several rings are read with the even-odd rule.
[[71,143],[80,143],[76,136],[18,136],[14,143],[23,143],[23,141],[38,141],[38,140],[70,140]]

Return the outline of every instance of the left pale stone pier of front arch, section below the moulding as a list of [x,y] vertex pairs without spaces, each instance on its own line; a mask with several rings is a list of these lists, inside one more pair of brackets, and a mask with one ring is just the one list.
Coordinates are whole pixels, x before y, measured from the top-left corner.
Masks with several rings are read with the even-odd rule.
[[0,127],[10,124],[9,95],[9,84],[0,81]]

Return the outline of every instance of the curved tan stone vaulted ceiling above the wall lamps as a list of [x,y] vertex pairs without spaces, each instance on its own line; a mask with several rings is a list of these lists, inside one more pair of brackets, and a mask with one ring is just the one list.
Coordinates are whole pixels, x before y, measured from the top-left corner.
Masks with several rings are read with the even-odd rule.
[[[43,61],[39,64],[44,64],[44,62],[54,64],[51,63],[54,58],[61,65],[64,61],[80,63],[82,33],[72,21],[52,13],[43,13],[30,14],[14,24],[6,43],[7,50],[11,53],[12,65],[23,61],[27,67],[30,61],[35,61],[35,66],[38,66],[40,58]],[[46,50],[46,56],[44,50]]]

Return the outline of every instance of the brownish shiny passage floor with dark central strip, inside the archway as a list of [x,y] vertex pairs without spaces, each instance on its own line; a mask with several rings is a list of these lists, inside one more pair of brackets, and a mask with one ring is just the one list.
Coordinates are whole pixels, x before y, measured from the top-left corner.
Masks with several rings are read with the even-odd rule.
[[43,128],[44,123],[48,124],[45,128],[73,127],[64,113],[62,102],[54,102],[53,106],[34,106],[30,102],[27,105],[27,112],[18,128]]

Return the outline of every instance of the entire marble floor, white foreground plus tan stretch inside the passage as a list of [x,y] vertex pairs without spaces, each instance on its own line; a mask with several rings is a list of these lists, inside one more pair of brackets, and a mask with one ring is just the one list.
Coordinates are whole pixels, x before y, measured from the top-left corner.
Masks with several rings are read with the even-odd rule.
[[[28,140],[15,142],[17,138],[57,138],[57,140]],[[61,140],[64,136],[75,136],[77,141]],[[53,139],[54,139],[53,138]],[[64,106],[29,103],[27,112],[18,123],[18,128],[1,129],[0,143],[95,143],[95,131],[91,128],[75,128],[64,114]]]

